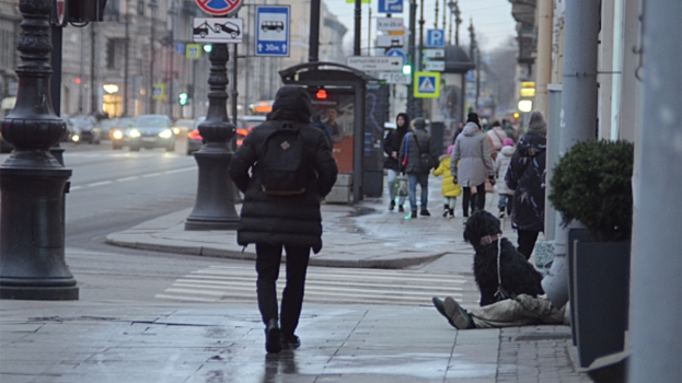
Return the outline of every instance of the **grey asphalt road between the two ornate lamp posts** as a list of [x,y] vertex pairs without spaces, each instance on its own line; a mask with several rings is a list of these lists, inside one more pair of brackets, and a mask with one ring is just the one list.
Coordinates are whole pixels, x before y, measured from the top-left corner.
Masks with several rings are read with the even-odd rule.
[[[180,143],[180,142],[178,142]],[[197,165],[177,144],[129,152],[62,143],[72,170],[66,196],[66,260],[80,287],[80,300],[152,301],[177,278],[228,259],[142,252],[111,246],[106,234],[194,206]],[[0,163],[9,154],[0,155]]]

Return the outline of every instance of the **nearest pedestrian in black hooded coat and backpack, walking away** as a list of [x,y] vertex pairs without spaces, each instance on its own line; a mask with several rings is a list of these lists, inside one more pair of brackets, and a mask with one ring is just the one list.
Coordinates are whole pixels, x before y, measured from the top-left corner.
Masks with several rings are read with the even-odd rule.
[[[310,251],[322,248],[320,199],[338,173],[327,137],[310,125],[311,104],[303,88],[280,88],[268,120],[246,136],[229,166],[230,177],[244,193],[236,242],[256,245],[256,290],[267,352],[300,346],[294,332]],[[282,247],[287,283],[278,314]]]

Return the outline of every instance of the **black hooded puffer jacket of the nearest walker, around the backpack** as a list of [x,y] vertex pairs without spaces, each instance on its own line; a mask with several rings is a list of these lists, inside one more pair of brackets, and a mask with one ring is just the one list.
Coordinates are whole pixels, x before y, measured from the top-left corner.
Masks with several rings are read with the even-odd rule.
[[[276,95],[268,120],[246,136],[230,162],[230,177],[244,193],[236,242],[310,246],[322,248],[322,216],[320,198],[326,196],[338,173],[336,162],[324,132],[308,124],[310,96],[299,86],[284,86]],[[263,154],[268,134],[284,124],[292,123],[301,129],[300,137],[310,149],[305,156],[312,163],[305,193],[297,196],[271,196],[261,189],[261,170],[256,166]],[[251,173],[250,173],[251,171]]]

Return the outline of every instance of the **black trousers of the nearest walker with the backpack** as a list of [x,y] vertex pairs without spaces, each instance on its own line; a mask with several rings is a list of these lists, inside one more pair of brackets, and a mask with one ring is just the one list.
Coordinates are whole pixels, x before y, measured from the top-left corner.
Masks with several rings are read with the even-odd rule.
[[[287,251],[287,285],[281,298],[280,327],[285,336],[293,335],[299,325],[301,307],[303,306],[303,291],[305,271],[310,259],[308,246],[284,246]],[[263,323],[277,320],[277,278],[281,262],[282,245],[256,244],[256,281],[258,310]]]

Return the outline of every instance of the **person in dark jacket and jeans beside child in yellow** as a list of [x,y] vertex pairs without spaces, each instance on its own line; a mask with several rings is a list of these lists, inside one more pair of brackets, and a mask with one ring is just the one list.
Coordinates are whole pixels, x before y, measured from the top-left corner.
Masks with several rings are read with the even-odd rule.
[[[405,135],[401,144],[398,163],[402,171],[407,174],[408,198],[411,213],[405,219],[417,218],[417,183],[421,189],[421,200],[419,204],[419,214],[429,217],[428,196],[429,196],[429,173],[437,165],[437,152],[434,147],[431,135],[426,131],[426,120],[417,117],[412,121],[413,130]],[[430,163],[425,163],[424,156],[430,158]]]

